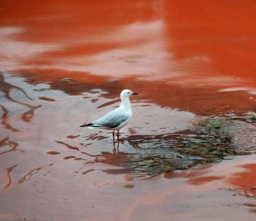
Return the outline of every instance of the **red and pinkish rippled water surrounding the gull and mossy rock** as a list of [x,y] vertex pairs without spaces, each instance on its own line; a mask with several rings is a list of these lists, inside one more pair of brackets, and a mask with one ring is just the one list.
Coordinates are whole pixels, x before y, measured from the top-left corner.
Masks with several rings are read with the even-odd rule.
[[[133,135],[254,112],[255,10],[249,0],[2,0],[0,219],[255,220],[255,155],[147,179],[127,161]],[[124,88],[140,96],[116,153],[111,133],[79,125]]]

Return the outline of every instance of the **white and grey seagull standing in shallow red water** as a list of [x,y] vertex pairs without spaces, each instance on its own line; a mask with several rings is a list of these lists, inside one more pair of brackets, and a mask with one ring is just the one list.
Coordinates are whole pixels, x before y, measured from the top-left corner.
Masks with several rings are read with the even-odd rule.
[[80,127],[112,130],[113,141],[115,138],[115,130],[117,130],[117,141],[119,142],[119,130],[126,126],[132,118],[132,108],[129,99],[132,95],[138,95],[138,93],[124,89],[120,94],[121,104],[117,109],[112,110],[89,124],[83,124]]

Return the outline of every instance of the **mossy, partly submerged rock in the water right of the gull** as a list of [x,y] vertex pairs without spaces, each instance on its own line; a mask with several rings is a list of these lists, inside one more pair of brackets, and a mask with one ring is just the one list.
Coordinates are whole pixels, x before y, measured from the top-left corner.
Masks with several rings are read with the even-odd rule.
[[138,149],[128,156],[134,173],[151,176],[255,150],[254,124],[227,117],[196,122],[193,129],[175,135],[130,137],[129,143]]

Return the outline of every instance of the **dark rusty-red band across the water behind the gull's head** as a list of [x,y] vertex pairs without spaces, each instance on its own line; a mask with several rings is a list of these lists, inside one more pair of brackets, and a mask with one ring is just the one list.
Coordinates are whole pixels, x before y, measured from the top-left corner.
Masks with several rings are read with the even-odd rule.
[[148,81],[106,79],[104,82],[98,82],[98,76],[89,73],[83,73],[83,76],[93,78],[93,82],[86,82],[82,77],[81,81],[85,82],[75,79],[66,81],[66,79],[62,78],[52,78],[50,74],[45,78],[42,78],[40,74],[28,75],[21,73],[16,75],[22,76],[30,84],[47,83],[50,89],[60,90],[71,96],[84,94],[85,92],[99,94],[99,97],[84,97],[92,102],[100,97],[114,99],[114,101],[99,105],[98,108],[117,102],[119,94],[124,88],[138,91],[140,96],[137,99],[142,102],[147,101],[146,105],[151,103],[160,107],[190,110],[196,115],[219,115],[234,110],[245,113],[249,110],[254,110],[255,104],[254,99],[248,99],[248,91],[219,92],[219,89],[223,89],[221,87],[170,85],[166,81],[154,81],[153,84],[150,84],[150,87]]

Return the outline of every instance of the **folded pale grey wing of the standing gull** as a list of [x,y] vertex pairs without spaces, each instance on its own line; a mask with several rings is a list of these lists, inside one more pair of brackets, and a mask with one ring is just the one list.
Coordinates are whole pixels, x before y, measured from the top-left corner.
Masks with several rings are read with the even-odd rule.
[[128,119],[128,115],[114,110],[104,115],[100,119],[94,120],[92,122],[92,127],[115,128]]

